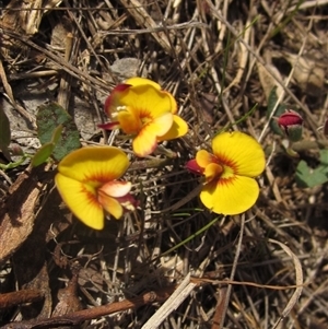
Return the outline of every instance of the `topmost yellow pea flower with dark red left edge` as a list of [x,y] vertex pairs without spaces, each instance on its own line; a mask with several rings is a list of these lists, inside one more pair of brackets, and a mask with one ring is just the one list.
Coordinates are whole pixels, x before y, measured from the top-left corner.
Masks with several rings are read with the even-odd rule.
[[173,95],[144,78],[131,78],[118,84],[105,102],[110,122],[104,129],[120,128],[133,139],[132,149],[138,156],[151,154],[157,143],[187,133],[188,126],[177,113]]

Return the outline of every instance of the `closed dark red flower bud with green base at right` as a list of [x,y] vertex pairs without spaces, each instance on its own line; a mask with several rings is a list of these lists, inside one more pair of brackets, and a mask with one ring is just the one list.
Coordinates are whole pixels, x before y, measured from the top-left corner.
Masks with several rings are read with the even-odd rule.
[[290,141],[297,142],[301,140],[303,132],[303,118],[300,114],[289,109],[278,118],[278,125],[284,130]]

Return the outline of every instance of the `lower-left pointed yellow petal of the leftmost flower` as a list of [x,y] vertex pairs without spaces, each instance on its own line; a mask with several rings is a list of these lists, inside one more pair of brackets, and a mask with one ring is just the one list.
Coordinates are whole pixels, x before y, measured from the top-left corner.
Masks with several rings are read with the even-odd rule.
[[102,230],[104,227],[104,211],[92,186],[57,174],[57,189],[71,212],[85,225]]

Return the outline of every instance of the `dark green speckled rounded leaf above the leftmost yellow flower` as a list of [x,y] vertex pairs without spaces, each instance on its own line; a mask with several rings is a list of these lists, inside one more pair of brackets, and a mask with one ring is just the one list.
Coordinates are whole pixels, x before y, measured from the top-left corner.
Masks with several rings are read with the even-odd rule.
[[52,156],[60,161],[73,150],[80,149],[80,133],[73,118],[57,103],[38,107],[37,134],[42,144],[52,142]]

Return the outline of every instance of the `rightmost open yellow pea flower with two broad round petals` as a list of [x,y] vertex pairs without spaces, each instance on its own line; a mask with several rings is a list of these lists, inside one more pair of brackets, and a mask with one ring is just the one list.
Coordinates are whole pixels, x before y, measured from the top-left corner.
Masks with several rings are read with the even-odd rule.
[[254,177],[266,165],[260,144],[243,132],[223,132],[212,140],[213,154],[200,150],[186,167],[204,177],[201,202],[211,211],[234,215],[251,208],[259,195]]

